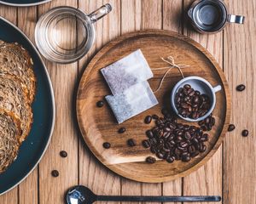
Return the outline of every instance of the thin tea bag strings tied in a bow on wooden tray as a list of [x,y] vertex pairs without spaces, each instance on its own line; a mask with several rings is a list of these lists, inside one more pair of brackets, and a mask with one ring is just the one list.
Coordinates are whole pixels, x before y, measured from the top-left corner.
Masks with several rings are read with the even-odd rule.
[[163,84],[163,82],[164,82],[164,80],[165,80],[167,74],[169,73],[169,71],[171,71],[173,68],[177,68],[177,70],[180,72],[181,76],[184,78],[184,76],[183,76],[183,71],[182,71],[181,69],[189,66],[189,65],[182,65],[182,64],[181,64],[181,65],[176,65],[176,64],[175,64],[175,61],[174,61],[174,58],[173,58],[172,56],[169,56],[169,57],[167,57],[166,59],[164,59],[163,57],[160,57],[160,59],[162,59],[164,62],[166,62],[167,64],[169,64],[169,66],[151,69],[151,70],[153,70],[153,71],[154,71],[154,70],[166,70],[166,69],[168,69],[168,70],[166,71],[166,73],[164,74],[164,76],[161,78],[159,87],[156,88],[156,90],[154,91],[154,93],[157,93],[157,92],[160,90],[160,88],[161,88],[161,86],[162,86],[162,84]]

